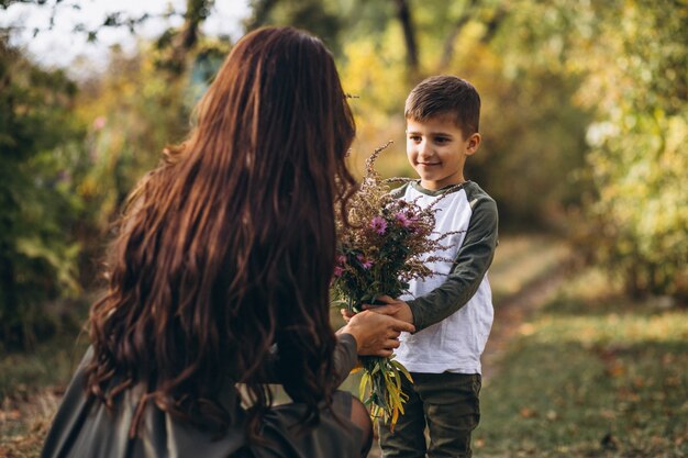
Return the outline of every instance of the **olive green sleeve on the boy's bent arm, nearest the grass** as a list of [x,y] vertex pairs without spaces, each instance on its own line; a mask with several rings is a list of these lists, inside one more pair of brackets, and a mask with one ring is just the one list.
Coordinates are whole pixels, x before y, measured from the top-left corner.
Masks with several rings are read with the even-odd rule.
[[487,194],[470,201],[471,216],[446,281],[429,294],[407,301],[415,332],[441,322],[473,298],[495,257],[497,204]]

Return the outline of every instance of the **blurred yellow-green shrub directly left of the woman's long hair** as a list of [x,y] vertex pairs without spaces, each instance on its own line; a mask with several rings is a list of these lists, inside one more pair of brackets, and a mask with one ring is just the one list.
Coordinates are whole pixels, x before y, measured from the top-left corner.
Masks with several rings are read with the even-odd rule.
[[168,53],[142,44],[135,56],[115,51],[108,71],[82,83],[79,118],[90,127],[75,158],[75,194],[84,202],[78,233],[84,284],[92,284],[110,224],[136,182],[156,166],[166,145],[184,139],[190,112],[226,55],[224,41],[200,41],[179,75],[160,68]]

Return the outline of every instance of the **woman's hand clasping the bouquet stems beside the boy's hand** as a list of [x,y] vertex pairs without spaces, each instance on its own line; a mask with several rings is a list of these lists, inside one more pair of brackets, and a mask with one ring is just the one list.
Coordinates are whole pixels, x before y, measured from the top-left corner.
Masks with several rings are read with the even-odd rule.
[[356,339],[358,355],[391,356],[399,347],[399,334],[415,331],[412,324],[397,320],[384,312],[363,311],[352,316],[339,333]]

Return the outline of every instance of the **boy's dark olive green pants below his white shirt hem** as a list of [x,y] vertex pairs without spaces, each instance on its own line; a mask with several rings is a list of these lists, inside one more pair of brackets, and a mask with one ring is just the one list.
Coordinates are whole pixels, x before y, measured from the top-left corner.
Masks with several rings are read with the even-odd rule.
[[[470,458],[470,433],[480,421],[480,376],[411,372],[402,389],[409,399],[395,432],[379,421],[384,458]],[[425,427],[430,444],[425,440]]]

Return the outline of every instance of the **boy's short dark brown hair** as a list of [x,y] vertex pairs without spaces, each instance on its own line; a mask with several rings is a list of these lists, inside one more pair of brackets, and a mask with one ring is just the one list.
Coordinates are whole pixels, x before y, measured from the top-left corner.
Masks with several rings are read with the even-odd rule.
[[451,114],[464,135],[470,135],[479,129],[480,96],[470,82],[457,76],[432,76],[411,90],[403,114],[407,120],[421,122]]

